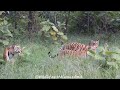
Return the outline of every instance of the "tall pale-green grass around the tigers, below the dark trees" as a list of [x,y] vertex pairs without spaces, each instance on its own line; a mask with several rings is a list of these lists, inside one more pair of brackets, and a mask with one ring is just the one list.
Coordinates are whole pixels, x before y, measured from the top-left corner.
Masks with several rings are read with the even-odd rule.
[[[70,41],[88,43],[94,37],[73,35],[69,37]],[[13,40],[11,40],[11,43]],[[48,52],[56,54],[61,45],[55,45],[50,41],[43,42],[40,38],[36,38],[33,42],[27,38],[19,38],[14,42],[26,47],[21,57],[15,57],[15,64],[6,63],[2,60],[3,47],[0,48],[0,79],[35,79],[40,76],[79,76],[81,79],[115,79],[120,78],[120,69],[100,66],[99,61],[92,58],[74,59],[59,58],[51,59],[48,57]],[[103,48],[104,40],[100,41],[98,50]],[[120,52],[119,38],[112,38],[108,43],[113,50]],[[3,64],[2,64],[3,63]]]

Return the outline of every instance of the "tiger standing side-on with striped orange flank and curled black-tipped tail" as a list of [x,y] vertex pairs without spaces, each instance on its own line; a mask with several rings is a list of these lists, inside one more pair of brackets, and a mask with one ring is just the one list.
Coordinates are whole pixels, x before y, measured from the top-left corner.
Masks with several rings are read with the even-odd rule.
[[49,57],[54,58],[56,56],[64,57],[64,56],[73,56],[73,57],[87,57],[87,52],[89,50],[95,51],[99,46],[99,40],[91,40],[88,45],[81,44],[78,42],[68,43],[63,45],[58,54],[51,56],[51,53],[48,52]]

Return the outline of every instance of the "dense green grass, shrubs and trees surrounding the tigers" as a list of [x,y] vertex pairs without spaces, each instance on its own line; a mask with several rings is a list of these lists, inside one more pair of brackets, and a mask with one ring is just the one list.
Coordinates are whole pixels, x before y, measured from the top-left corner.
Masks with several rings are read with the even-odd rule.
[[[119,11],[0,11],[0,78],[120,78],[119,28]],[[48,57],[66,42],[94,39],[100,45],[87,59]],[[2,58],[11,44],[25,47],[14,65]]]

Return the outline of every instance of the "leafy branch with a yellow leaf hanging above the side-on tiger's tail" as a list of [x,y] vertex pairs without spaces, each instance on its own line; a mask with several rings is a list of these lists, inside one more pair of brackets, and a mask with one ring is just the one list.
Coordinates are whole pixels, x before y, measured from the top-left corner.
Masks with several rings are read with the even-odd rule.
[[49,20],[41,22],[42,29],[39,33],[44,33],[45,37],[52,38],[53,41],[61,40],[63,43],[68,40],[67,36],[63,32],[51,23]]

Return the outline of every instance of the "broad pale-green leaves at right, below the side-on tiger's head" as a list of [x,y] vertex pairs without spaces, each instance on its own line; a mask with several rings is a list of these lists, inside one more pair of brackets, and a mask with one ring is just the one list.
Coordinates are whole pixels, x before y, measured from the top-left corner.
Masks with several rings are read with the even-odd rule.
[[96,60],[104,60],[105,66],[112,66],[115,69],[118,69],[120,64],[120,53],[117,51],[110,51],[108,49],[103,49],[98,53],[94,53],[93,51],[89,51],[90,56],[94,57]]

